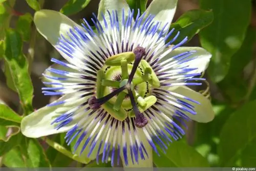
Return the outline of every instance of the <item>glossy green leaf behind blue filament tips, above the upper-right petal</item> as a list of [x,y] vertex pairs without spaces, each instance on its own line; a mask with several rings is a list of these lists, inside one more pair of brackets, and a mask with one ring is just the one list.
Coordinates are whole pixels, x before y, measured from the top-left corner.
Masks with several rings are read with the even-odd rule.
[[187,11],[181,15],[175,23],[170,25],[170,29],[174,28],[175,31],[169,40],[173,39],[178,31],[180,34],[176,41],[174,41],[174,45],[178,44],[186,36],[188,37],[188,40],[190,40],[195,34],[199,33],[200,30],[211,24],[212,20],[214,20],[214,14],[212,11],[205,11],[201,9]]

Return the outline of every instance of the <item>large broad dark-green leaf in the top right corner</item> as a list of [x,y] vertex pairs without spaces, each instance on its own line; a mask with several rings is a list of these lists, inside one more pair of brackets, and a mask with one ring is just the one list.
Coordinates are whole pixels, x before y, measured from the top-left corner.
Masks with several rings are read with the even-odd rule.
[[212,54],[208,73],[212,81],[221,81],[228,72],[231,56],[244,40],[250,22],[251,0],[201,0],[200,7],[212,9],[214,22],[200,32],[203,48]]

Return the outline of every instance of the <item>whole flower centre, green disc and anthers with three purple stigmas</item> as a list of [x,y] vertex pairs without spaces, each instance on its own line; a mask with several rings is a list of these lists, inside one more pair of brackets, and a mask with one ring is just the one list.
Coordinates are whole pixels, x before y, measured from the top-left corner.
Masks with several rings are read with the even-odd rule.
[[147,124],[143,112],[156,102],[150,90],[160,86],[151,66],[142,59],[145,49],[137,47],[106,59],[97,73],[96,97],[89,99],[91,109],[101,106],[114,118],[123,121],[135,117],[137,127]]

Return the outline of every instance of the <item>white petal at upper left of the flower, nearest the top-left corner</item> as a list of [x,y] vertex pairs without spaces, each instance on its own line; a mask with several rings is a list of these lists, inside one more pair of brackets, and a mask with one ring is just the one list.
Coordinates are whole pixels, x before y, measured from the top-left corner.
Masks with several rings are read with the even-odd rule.
[[[74,28],[75,26],[83,29],[66,15],[53,10],[40,10],[35,12],[34,23],[37,31],[42,36],[44,36],[54,47],[56,47],[61,34],[66,37],[67,31]],[[67,56],[61,51],[59,51],[59,53],[63,57]]]

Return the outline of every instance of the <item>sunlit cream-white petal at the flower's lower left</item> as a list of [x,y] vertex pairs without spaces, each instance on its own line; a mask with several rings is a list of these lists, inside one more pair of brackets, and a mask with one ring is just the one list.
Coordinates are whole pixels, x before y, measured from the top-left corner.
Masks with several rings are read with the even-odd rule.
[[[62,101],[70,98],[71,96],[72,95],[66,95],[56,101]],[[84,99],[82,100],[84,101]],[[76,124],[76,121],[71,122],[67,126],[61,127],[59,130],[54,129],[54,126],[56,125],[51,123],[56,117],[63,114],[63,111],[69,111],[80,103],[81,100],[76,100],[73,104],[63,103],[55,106],[45,106],[40,108],[22,119],[20,130],[22,131],[23,135],[30,138],[38,138],[67,132]]]

